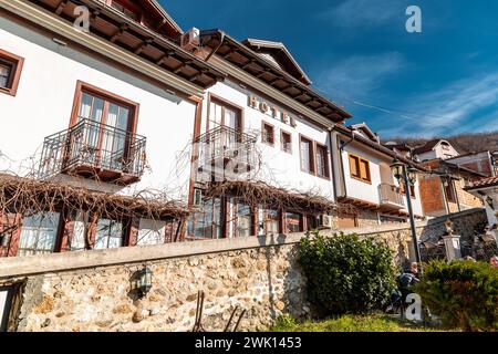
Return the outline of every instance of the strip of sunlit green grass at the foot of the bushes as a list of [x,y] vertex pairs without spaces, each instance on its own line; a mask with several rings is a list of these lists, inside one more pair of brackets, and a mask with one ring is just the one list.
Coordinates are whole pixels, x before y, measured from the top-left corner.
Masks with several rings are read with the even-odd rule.
[[271,332],[440,332],[436,327],[423,326],[412,322],[402,322],[387,314],[342,315],[319,322],[297,323],[289,316],[277,320]]

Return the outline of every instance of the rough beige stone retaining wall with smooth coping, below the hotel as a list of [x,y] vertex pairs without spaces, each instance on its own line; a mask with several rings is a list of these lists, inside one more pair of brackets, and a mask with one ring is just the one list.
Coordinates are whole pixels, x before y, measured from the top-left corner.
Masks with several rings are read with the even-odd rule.
[[[469,233],[484,211],[454,218]],[[486,218],[486,216],[484,216]],[[419,237],[437,237],[444,219],[419,222]],[[396,262],[413,260],[407,225],[343,229],[384,240]],[[334,231],[326,233],[332,235]],[[236,306],[248,312],[239,330],[264,330],[281,313],[305,317],[305,279],[297,243],[305,237],[238,238],[0,259],[2,282],[23,281],[18,331],[189,331],[198,290],[206,292],[203,325],[222,331]],[[131,293],[132,274],[147,266],[153,288]]]

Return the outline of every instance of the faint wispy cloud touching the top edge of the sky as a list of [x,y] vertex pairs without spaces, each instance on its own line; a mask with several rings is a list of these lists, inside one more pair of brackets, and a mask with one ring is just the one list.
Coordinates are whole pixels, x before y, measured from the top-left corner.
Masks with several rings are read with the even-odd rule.
[[343,28],[378,27],[404,19],[406,6],[398,0],[346,0],[319,17]]

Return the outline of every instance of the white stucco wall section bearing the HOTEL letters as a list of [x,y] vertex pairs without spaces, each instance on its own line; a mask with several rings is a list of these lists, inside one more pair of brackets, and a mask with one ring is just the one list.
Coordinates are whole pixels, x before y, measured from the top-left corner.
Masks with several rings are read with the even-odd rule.
[[[262,168],[257,175],[257,179],[264,180],[277,187],[297,189],[302,192],[311,191],[313,194],[320,194],[331,200],[334,198],[332,179],[324,179],[304,173],[301,170],[300,165],[300,134],[307,138],[315,140],[317,143],[329,146],[329,133],[325,129],[314,126],[312,123],[291,114],[297,118],[297,126],[292,127],[278,118],[273,118],[270,111],[264,114],[260,110],[249,106],[248,97],[250,95],[255,95],[258,101],[264,101],[268,104],[274,104],[277,107],[286,110],[282,105],[279,105],[269,98],[262,97],[257,93],[250,92],[248,88],[242,88],[238,84],[228,80],[224,83],[217,83],[215,86],[210,87],[208,92],[216,96],[222,97],[224,100],[234,105],[240,106],[243,110],[243,132],[258,136],[257,149],[262,156]],[[203,132],[206,128],[205,125],[208,111],[207,95],[205,102],[206,104],[203,106]],[[289,110],[286,111],[289,112]],[[273,146],[261,143],[262,121],[273,125],[274,127]],[[284,153],[281,149],[281,129],[292,135],[292,154]]]

